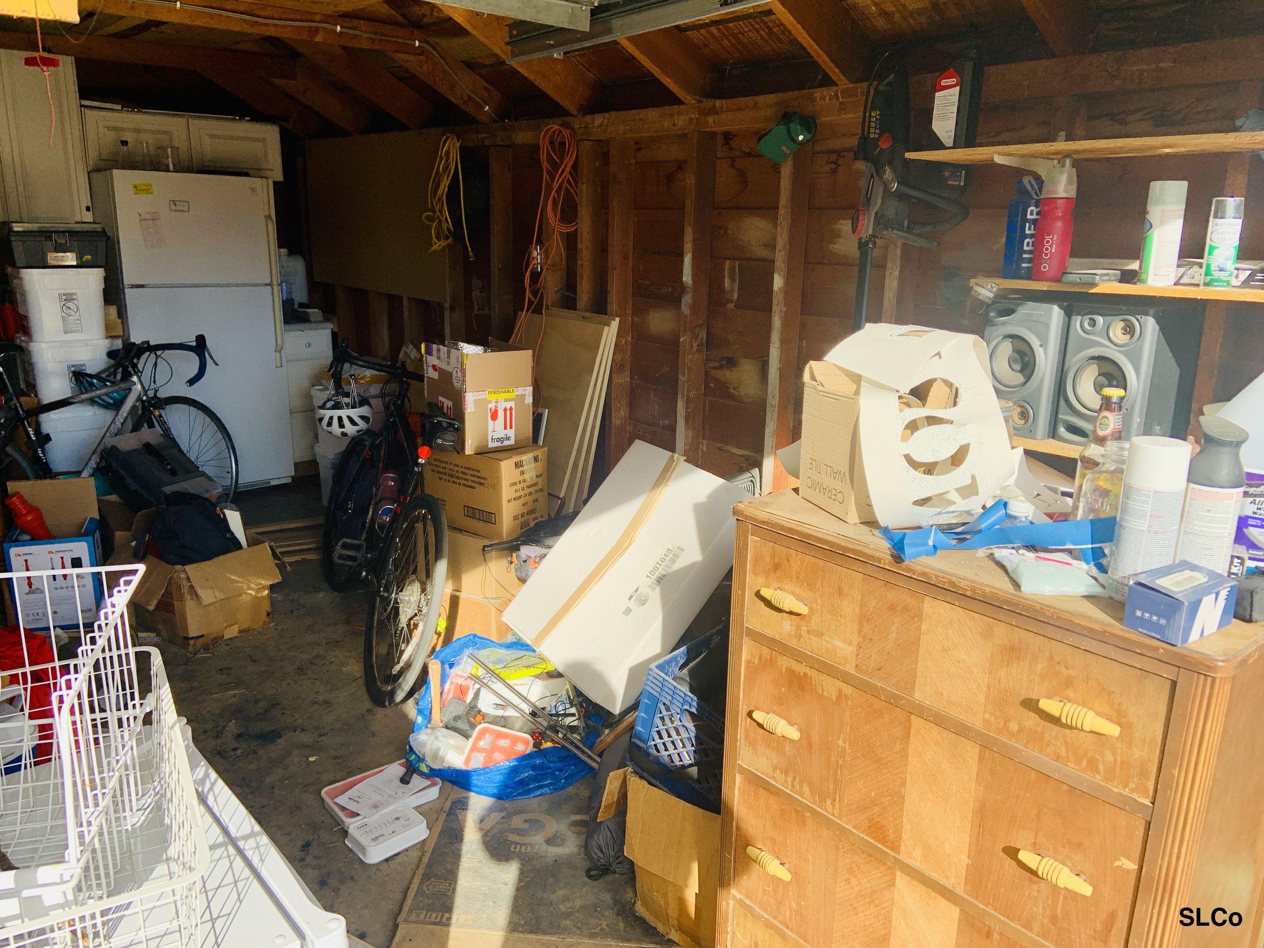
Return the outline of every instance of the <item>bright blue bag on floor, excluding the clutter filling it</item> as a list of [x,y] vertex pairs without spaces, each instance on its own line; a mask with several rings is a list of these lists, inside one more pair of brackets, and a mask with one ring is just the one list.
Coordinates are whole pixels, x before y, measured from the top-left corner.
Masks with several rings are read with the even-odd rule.
[[[535,652],[526,642],[493,642],[483,636],[461,636],[445,645],[435,652],[434,657],[441,664],[440,689],[447,681],[453,669],[468,652],[477,652],[483,648],[504,648],[509,651]],[[417,715],[412,724],[412,731],[425,731],[430,722],[430,681],[422,688],[417,696]],[[597,741],[597,734],[585,738],[589,747]],[[480,796],[490,796],[495,800],[522,800],[527,796],[544,796],[565,790],[568,786],[593,772],[593,769],[565,747],[541,747],[514,757],[511,761],[497,763],[480,770],[449,770],[446,767],[428,767],[408,744],[408,762],[418,772],[431,777],[446,780],[453,786],[468,790]]]

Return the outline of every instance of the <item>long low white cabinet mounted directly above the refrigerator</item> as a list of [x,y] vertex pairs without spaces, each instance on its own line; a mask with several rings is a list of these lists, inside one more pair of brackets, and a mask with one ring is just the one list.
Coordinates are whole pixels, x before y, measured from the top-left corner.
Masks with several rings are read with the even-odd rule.
[[181,149],[179,171],[282,179],[281,130],[262,121],[87,106],[83,134],[88,171],[118,168],[125,140],[133,161],[140,158],[144,143],[155,158],[163,147],[173,145]]

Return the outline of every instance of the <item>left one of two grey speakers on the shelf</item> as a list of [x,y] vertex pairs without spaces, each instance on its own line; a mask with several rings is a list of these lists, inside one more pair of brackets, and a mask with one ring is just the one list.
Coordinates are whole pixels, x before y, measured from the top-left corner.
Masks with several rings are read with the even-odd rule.
[[1014,402],[1014,434],[1053,437],[1067,316],[1055,303],[999,300],[987,307],[983,341],[997,398]]

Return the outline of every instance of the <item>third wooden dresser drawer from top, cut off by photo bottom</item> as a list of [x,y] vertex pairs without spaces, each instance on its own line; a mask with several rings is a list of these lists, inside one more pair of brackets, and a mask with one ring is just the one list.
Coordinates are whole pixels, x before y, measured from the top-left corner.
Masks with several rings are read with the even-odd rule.
[[[739,897],[732,902],[728,948],[1019,948],[780,796],[742,777],[737,785],[733,890]],[[774,853],[790,880],[761,870],[747,846]],[[823,887],[828,878],[837,890]]]

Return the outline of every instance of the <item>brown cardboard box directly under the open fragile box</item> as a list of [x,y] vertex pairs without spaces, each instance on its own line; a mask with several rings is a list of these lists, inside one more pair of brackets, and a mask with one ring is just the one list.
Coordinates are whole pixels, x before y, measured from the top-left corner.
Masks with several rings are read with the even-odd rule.
[[447,525],[487,540],[511,540],[549,516],[544,447],[494,454],[436,451],[426,461],[426,490],[444,504]]

